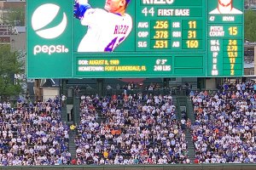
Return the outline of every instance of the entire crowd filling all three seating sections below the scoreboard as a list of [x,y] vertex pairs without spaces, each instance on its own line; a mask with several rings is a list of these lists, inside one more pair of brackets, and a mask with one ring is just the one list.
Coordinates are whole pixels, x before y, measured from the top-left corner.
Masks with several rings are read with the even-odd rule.
[[61,122],[63,95],[19,100],[15,109],[2,102],[0,166],[191,163],[185,129],[195,144],[195,163],[256,163],[256,83],[224,83],[215,93],[188,89],[195,123],[185,112],[177,120],[171,95],[82,95],[81,121],[70,127]]

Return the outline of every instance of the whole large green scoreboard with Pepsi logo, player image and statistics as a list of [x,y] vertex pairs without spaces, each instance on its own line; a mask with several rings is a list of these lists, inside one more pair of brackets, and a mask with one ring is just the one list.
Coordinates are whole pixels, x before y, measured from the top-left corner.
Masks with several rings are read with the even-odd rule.
[[73,0],[26,3],[27,77],[243,76],[243,0],[131,0],[130,24],[105,0],[80,20]]

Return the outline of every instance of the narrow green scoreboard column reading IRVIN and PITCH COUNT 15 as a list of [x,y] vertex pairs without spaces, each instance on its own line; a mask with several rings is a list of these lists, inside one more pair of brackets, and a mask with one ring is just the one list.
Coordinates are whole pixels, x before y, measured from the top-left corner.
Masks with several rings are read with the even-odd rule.
[[[228,14],[211,13],[216,4],[208,0],[207,59],[209,76],[243,76],[244,1],[230,1]],[[236,10],[235,10],[236,9]],[[214,10],[214,9],[213,9]]]

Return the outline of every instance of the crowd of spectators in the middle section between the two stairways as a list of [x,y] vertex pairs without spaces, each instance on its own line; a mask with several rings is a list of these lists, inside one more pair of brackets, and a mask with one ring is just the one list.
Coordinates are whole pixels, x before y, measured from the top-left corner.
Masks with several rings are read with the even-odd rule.
[[79,165],[189,163],[171,95],[82,96]]

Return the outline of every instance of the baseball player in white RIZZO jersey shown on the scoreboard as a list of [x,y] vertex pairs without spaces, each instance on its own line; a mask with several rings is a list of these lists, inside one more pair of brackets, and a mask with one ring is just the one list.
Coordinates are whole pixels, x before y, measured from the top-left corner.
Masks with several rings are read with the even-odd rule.
[[[98,0],[97,0],[98,1]],[[75,0],[73,14],[88,30],[78,52],[112,52],[130,34],[132,20],[125,9],[130,0],[106,0],[105,9],[91,8],[88,0]]]

